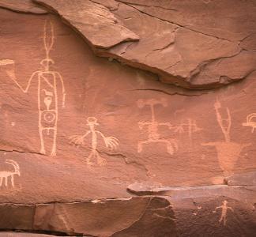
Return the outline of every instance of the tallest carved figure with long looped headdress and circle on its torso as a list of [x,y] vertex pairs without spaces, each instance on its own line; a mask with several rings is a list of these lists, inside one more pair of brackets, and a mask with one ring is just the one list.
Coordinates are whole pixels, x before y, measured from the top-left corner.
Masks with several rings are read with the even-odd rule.
[[[39,134],[40,134],[40,153],[46,154],[45,141],[48,138],[52,139],[51,156],[56,156],[56,139],[57,139],[57,122],[58,122],[58,92],[57,83],[60,81],[62,85],[62,107],[65,107],[65,87],[62,76],[57,71],[50,69],[54,60],[50,58],[50,51],[54,45],[54,26],[51,21],[45,21],[43,28],[43,47],[46,52],[46,57],[40,62],[43,70],[37,70],[32,73],[28,80],[26,88],[23,88],[17,81],[14,71],[15,62],[11,59],[0,60],[0,66],[5,67],[7,75],[13,82],[21,89],[22,92],[27,93],[31,86],[32,80],[38,81],[38,111],[39,111]],[[47,133],[45,133],[45,131]],[[51,131],[51,134],[50,134]]]

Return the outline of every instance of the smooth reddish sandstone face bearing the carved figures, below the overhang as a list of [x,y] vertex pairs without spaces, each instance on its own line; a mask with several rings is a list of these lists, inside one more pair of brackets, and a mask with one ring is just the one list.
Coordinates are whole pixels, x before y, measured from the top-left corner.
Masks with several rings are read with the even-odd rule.
[[222,184],[256,169],[254,73],[212,92],[165,85],[97,57],[58,16],[0,11],[0,150],[22,168],[21,200],[126,197],[133,182]]

